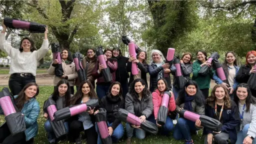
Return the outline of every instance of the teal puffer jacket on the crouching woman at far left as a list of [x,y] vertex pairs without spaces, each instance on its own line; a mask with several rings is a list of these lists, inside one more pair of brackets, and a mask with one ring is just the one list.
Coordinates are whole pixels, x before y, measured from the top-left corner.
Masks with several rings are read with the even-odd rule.
[[[14,98],[16,97],[17,95],[14,95]],[[26,125],[25,135],[26,135],[26,141],[28,141],[29,139],[33,138],[38,132],[37,118],[40,112],[40,106],[38,101],[35,98],[31,98],[30,100],[27,100],[24,103],[24,106],[20,112],[23,113],[25,117],[25,125]],[[3,114],[3,113],[0,113],[0,114]]]

